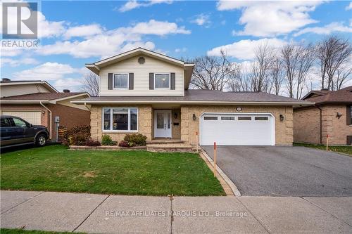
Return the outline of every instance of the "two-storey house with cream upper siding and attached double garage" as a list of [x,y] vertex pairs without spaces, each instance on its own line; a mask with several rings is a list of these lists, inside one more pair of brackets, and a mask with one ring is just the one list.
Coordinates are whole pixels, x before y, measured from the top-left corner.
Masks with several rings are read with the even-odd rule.
[[[293,106],[306,101],[260,92],[189,90],[194,64],[136,48],[87,64],[100,96],[74,100],[91,110],[91,135],[125,134],[201,145],[292,145]],[[312,104],[312,103],[310,103]]]

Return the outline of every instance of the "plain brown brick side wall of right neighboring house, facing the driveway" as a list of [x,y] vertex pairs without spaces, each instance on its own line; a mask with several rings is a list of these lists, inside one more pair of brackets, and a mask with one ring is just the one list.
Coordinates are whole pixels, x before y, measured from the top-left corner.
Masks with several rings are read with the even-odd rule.
[[294,142],[320,143],[320,110],[294,109]]

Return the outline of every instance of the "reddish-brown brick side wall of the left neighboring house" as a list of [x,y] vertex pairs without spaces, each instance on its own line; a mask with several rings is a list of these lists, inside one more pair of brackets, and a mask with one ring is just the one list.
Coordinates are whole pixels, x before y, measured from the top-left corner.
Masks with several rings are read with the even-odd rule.
[[53,140],[56,134],[56,116],[60,117],[60,125],[66,126],[67,129],[71,129],[74,126],[90,124],[90,112],[88,110],[81,110],[60,104],[45,104],[45,106],[51,110],[51,138]]

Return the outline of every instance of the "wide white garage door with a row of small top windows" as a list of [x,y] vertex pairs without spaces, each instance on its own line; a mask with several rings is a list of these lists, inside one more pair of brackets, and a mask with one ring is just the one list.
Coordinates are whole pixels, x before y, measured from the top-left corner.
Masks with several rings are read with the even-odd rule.
[[275,119],[270,114],[201,116],[201,145],[275,145]]

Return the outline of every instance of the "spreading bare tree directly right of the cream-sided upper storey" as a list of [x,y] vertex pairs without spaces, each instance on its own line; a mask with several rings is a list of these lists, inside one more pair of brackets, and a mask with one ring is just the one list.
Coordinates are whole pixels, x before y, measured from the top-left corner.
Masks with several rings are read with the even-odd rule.
[[201,56],[194,59],[191,84],[196,89],[223,90],[237,72],[238,66],[231,63],[221,51],[220,57]]

